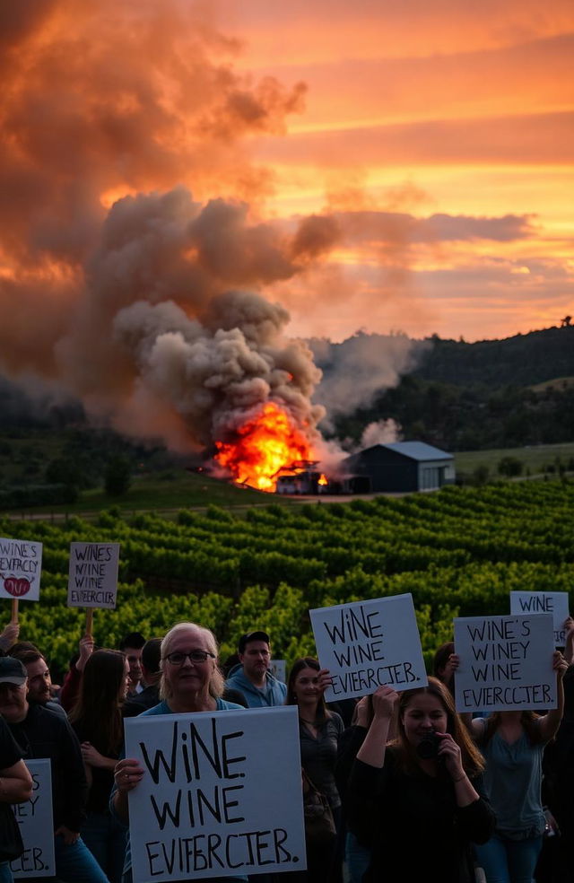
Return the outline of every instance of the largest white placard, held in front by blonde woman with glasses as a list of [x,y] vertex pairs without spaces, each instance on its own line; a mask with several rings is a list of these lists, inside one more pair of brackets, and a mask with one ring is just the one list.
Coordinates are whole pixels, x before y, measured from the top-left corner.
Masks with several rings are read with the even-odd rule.
[[[294,706],[127,718],[134,879],[305,870]],[[277,763],[277,758],[281,763]]]

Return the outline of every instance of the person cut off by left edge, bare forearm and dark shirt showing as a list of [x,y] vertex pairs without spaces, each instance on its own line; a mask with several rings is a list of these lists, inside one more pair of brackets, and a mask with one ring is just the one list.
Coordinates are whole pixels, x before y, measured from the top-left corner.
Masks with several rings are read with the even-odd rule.
[[32,777],[7,724],[0,717],[0,883],[12,883],[10,861],[23,852],[22,837],[11,803],[30,800]]

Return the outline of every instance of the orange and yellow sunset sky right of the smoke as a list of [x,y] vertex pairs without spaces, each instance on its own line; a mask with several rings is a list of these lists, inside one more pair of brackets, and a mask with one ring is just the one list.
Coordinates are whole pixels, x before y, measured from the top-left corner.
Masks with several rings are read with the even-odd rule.
[[268,211],[368,213],[275,287],[294,331],[474,340],[573,312],[569,0],[243,0],[222,20],[238,66],[308,87],[287,135],[251,143]]

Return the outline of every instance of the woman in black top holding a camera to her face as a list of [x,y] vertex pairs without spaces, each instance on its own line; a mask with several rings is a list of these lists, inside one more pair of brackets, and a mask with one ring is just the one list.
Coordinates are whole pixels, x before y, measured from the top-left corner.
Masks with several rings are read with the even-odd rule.
[[[397,706],[397,708],[396,708]],[[494,816],[481,794],[483,759],[437,678],[373,695],[374,717],[352,769],[350,828],[371,834],[363,880],[388,873],[388,851],[401,856],[403,879],[474,880],[471,844],[491,836]],[[397,738],[387,746],[397,713]]]

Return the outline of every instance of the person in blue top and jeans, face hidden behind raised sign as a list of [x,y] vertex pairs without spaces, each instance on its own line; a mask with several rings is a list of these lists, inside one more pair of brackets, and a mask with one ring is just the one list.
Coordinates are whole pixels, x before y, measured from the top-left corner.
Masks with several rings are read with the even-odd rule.
[[544,746],[560,726],[564,709],[562,678],[568,668],[560,651],[553,654],[552,668],[556,673],[557,708],[541,716],[517,708],[470,721],[486,760],[485,789],[497,819],[494,835],[476,849],[488,883],[531,880],[542,849],[542,759]]

